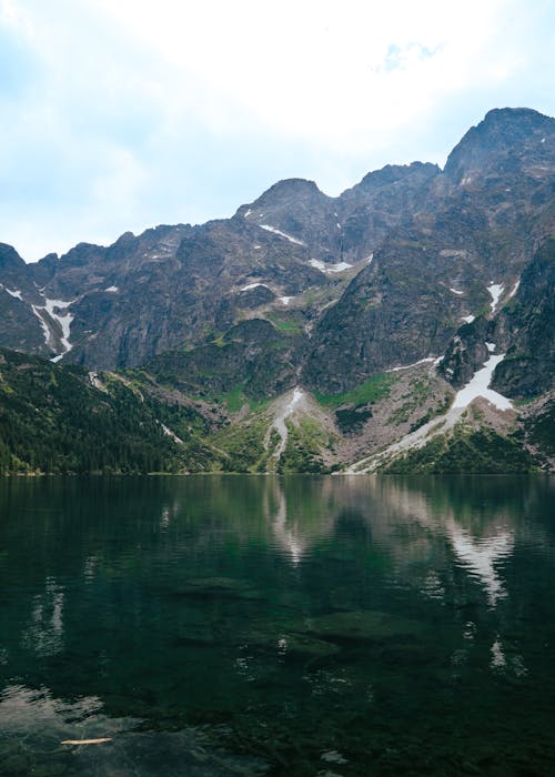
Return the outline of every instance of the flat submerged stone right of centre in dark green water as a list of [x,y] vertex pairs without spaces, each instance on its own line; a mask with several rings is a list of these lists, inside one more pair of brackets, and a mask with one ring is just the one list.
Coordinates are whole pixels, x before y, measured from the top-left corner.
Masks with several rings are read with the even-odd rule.
[[373,609],[351,613],[332,613],[312,618],[307,630],[324,639],[382,640],[392,637],[414,636],[422,627],[415,620]]

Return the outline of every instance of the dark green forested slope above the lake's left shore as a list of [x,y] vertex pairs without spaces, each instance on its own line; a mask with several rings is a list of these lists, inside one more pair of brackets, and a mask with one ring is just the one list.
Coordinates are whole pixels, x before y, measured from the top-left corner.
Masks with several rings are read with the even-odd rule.
[[[211,454],[194,411],[142,397],[121,380],[0,351],[0,474],[148,473],[203,470]],[[183,434],[184,445],[163,424]]]

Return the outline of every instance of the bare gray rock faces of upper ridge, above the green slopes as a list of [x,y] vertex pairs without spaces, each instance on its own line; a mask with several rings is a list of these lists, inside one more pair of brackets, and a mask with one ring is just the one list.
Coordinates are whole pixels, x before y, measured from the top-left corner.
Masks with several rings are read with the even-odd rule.
[[444,171],[387,165],[337,198],[281,181],[231,219],[34,265],[1,246],[0,345],[271,395],[299,381],[343,392],[442,355],[458,387],[494,342],[495,385],[528,396],[551,385],[553,249],[538,246],[555,234],[554,180],[555,120],[503,109]]

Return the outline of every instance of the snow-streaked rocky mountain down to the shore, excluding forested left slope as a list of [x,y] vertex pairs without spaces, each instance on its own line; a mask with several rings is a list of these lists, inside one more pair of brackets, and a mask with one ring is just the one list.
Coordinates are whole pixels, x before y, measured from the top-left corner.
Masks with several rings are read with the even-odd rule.
[[195,408],[209,468],[549,468],[554,185],[555,120],[496,109],[443,170],[337,198],[280,181],[231,219],[36,264],[0,245],[0,345]]

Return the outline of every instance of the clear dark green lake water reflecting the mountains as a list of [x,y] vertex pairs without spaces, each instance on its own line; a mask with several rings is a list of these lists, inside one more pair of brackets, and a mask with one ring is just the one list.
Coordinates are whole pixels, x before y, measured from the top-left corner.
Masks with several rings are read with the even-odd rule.
[[0,774],[555,774],[554,486],[1,482]]

